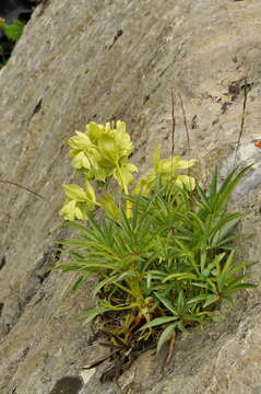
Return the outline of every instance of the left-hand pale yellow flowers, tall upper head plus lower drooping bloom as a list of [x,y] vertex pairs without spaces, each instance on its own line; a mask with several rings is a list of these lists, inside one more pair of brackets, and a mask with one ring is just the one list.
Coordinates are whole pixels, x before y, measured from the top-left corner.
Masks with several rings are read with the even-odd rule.
[[128,161],[133,146],[123,121],[106,123],[105,126],[92,121],[86,126],[85,132],[75,134],[76,136],[68,140],[71,148],[69,155],[72,165],[84,174],[85,187],[62,185],[67,200],[60,215],[70,221],[87,220],[88,211],[95,206],[111,210],[114,201],[106,195],[97,201],[91,181],[105,183],[114,177],[128,194],[128,186],[133,181],[132,173],[138,171],[137,166]]

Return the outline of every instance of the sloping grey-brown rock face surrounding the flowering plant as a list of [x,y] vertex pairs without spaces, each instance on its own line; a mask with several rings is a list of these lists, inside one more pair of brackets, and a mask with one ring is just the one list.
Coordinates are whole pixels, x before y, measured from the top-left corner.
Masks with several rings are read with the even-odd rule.
[[[90,120],[127,121],[150,166],[152,148],[170,150],[170,89],[182,95],[188,152],[178,97],[179,154],[201,159],[202,176],[235,157],[245,84],[248,101],[240,162],[254,162],[234,205],[246,212],[242,258],[261,252],[261,8],[260,0],[49,0],[26,25],[0,71],[0,392],[2,394],[261,393],[260,290],[225,309],[226,321],[182,336],[162,375],[153,351],[115,383],[102,385],[104,367],[83,370],[104,349],[88,326],[71,322],[94,302],[90,281],[71,293],[73,276],[52,271],[63,236],[57,216],[61,183],[72,172],[66,140]],[[247,81],[246,81],[247,79]],[[62,257],[63,258],[63,257]],[[260,281],[260,265],[249,275]],[[141,368],[142,366],[142,368]],[[69,391],[70,390],[70,391]]]

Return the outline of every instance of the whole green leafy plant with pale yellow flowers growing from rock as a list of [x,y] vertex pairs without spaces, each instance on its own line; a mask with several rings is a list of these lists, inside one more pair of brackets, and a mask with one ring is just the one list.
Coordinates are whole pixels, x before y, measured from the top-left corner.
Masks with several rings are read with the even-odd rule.
[[[62,240],[73,259],[56,269],[80,274],[73,289],[90,275],[98,277],[98,305],[79,318],[88,322],[100,314],[106,322],[114,312],[104,326],[114,343],[119,338],[134,347],[150,339],[159,351],[177,329],[215,321],[221,301],[232,302],[234,292],[254,286],[242,274],[252,262],[236,264],[233,242],[241,215],[227,212],[248,167],[235,169],[220,187],[215,170],[203,190],[182,173],[194,159],[162,159],[157,147],[153,170],[133,184],[138,169],[129,162],[133,146],[123,121],[90,123],[85,132],[75,134],[68,140],[69,154],[82,186],[62,186],[67,200],[60,215],[80,235]],[[110,178],[121,190],[118,199],[104,192]],[[97,207],[99,220],[93,213]]]

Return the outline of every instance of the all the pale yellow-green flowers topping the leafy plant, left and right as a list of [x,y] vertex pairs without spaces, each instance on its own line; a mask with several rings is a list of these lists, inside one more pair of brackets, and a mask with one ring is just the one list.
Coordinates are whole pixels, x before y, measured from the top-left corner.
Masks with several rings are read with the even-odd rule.
[[[117,217],[117,205],[111,195],[104,193],[97,199],[92,182],[104,184],[114,177],[121,190],[129,195],[129,185],[133,182],[133,172],[138,167],[129,162],[133,146],[126,131],[124,121],[111,121],[98,125],[94,121],[86,126],[86,131],[75,131],[75,136],[68,140],[71,148],[70,158],[78,173],[84,174],[84,187],[75,184],[62,185],[67,200],[60,210],[66,220],[87,220],[88,212],[95,206],[102,207],[109,217]],[[191,192],[195,186],[192,176],[179,174],[194,165],[195,160],[181,160],[179,157],[161,159],[161,147],[154,152],[153,171],[140,178],[133,187],[133,194],[150,195],[161,177],[164,185],[171,183]],[[131,216],[131,204],[127,201],[127,216]]]

